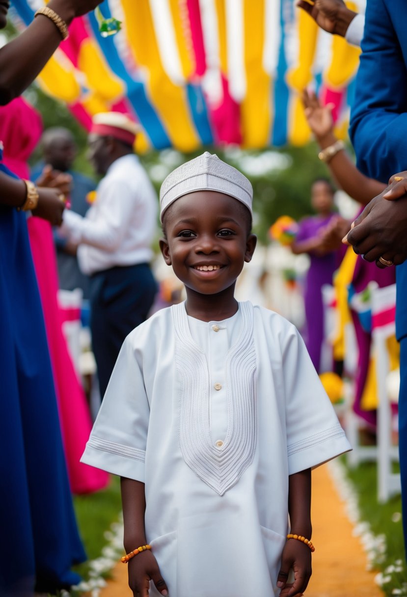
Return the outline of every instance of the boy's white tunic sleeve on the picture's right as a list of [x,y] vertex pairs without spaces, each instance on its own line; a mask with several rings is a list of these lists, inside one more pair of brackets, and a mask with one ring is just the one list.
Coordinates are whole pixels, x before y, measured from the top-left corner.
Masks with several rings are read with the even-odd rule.
[[294,326],[283,348],[289,474],[352,450]]

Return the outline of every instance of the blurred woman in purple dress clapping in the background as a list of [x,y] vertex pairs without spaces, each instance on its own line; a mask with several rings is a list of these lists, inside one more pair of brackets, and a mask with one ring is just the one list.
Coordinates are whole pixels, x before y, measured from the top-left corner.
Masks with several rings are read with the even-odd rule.
[[310,257],[304,287],[306,313],[306,346],[317,372],[321,371],[321,349],[324,338],[322,286],[332,284],[332,276],[340,260],[337,251],[326,250],[321,244],[323,230],[338,218],[334,211],[334,187],[328,179],[317,179],[311,187],[311,204],[315,216],[299,223],[292,253],[306,253]]

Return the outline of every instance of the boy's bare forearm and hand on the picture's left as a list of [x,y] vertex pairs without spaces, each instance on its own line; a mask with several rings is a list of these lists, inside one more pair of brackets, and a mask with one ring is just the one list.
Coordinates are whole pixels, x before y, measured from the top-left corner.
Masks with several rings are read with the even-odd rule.
[[[124,519],[124,548],[126,553],[146,544],[144,513],[146,496],[144,483],[121,477],[122,507]],[[134,597],[148,597],[150,580],[161,595],[168,595],[168,588],[161,576],[157,561],[149,550],[138,553],[128,562],[129,587]]]

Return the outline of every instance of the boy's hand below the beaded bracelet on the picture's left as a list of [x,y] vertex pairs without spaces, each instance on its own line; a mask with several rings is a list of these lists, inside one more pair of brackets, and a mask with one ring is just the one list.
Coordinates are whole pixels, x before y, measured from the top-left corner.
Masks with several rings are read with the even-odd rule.
[[128,562],[128,584],[134,597],[148,597],[150,580],[161,595],[168,595],[168,588],[152,552],[138,553]]

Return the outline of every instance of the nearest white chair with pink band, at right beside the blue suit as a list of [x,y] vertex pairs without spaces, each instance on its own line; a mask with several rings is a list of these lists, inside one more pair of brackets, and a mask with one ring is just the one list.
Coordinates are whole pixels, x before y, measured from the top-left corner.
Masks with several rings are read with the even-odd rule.
[[372,342],[376,359],[377,411],[377,496],[381,503],[400,493],[400,474],[392,472],[393,461],[399,460],[399,450],[391,442],[393,415],[387,390],[390,373],[387,340],[394,336],[396,285],[372,291]]

